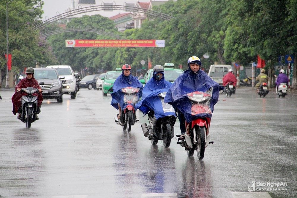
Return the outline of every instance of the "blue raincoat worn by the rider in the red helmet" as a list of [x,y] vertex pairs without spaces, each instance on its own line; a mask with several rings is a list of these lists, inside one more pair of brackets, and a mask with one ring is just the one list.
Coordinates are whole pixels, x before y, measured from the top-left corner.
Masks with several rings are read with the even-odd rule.
[[125,87],[134,87],[134,88],[138,87],[140,88],[138,92],[138,98],[140,98],[142,95],[142,89],[143,89],[142,83],[140,83],[140,81],[136,77],[132,76],[131,74],[129,76],[125,76],[124,71],[122,71],[121,75],[117,77],[117,79],[114,81],[113,92],[111,93],[112,100],[110,104],[117,110],[119,110],[118,104],[120,104],[121,109],[125,109],[126,105],[128,105],[124,103],[123,101],[124,93],[121,92],[121,89]]

